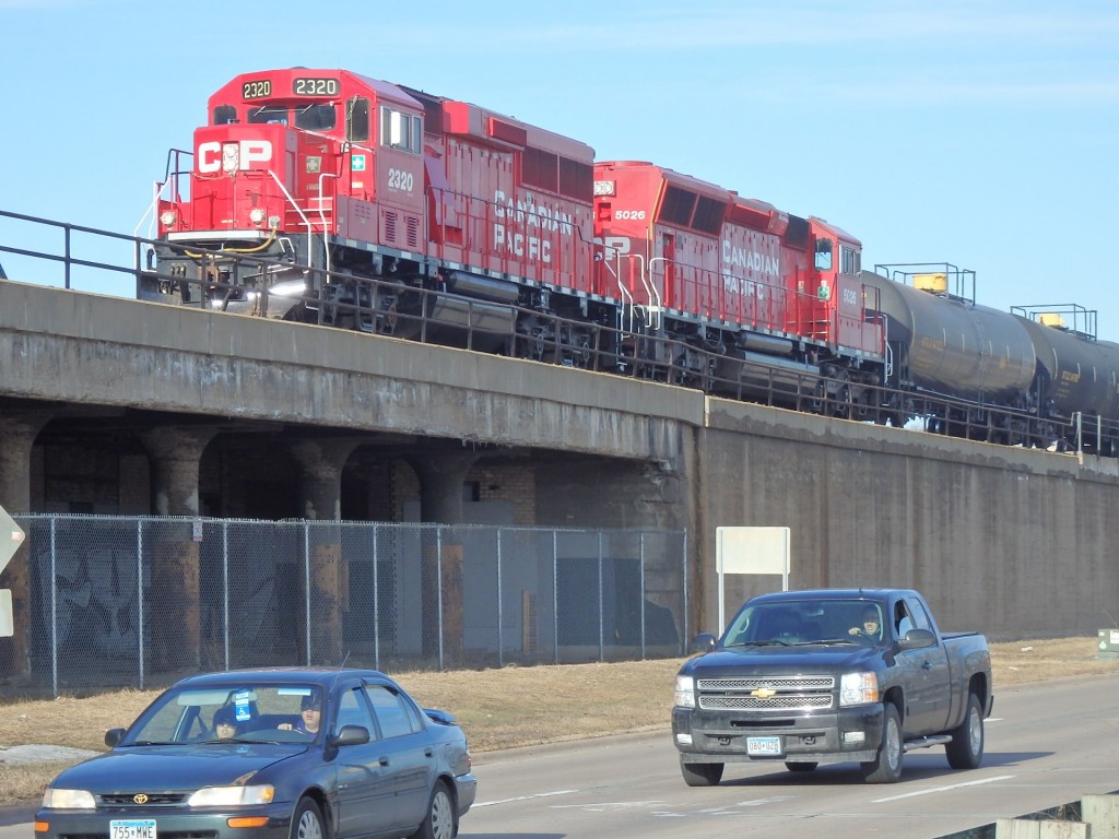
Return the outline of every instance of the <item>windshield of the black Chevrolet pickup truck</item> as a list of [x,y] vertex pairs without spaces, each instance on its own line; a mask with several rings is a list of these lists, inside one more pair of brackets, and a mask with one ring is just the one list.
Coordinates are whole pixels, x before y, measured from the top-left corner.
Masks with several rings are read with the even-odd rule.
[[723,634],[724,647],[878,645],[882,607],[867,600],[806,600],[745,606]]

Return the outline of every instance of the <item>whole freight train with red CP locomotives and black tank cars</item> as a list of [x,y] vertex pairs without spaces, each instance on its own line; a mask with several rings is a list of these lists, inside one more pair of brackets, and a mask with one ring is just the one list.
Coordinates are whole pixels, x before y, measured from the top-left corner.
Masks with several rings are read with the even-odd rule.
[[1119,454],[1119,345],[950,263],[340,69],[209,97],[152,200],[141,299],[647,377],[1005,444]]

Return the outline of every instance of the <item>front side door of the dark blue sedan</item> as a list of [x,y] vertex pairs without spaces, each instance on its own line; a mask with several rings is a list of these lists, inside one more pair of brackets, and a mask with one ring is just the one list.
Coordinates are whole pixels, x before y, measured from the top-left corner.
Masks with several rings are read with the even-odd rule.
[[338,747],[338,839],[389,830],[396,821],[393,781],[382,764],[377,726],[360,685],[339,691],[330,732],[337,735],[347,725],[367,729],[369,742]]

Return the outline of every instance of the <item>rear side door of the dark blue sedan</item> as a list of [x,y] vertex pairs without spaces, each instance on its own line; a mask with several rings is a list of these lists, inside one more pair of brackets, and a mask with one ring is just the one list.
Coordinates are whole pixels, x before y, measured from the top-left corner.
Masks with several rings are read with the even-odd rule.
[[434,745],[423,724],[408,713],[407,700],[392,686],[367,684],[366,696],[380,730],[380,764],[395,793],[394,827],[414,829],[426,816],[435,780]]

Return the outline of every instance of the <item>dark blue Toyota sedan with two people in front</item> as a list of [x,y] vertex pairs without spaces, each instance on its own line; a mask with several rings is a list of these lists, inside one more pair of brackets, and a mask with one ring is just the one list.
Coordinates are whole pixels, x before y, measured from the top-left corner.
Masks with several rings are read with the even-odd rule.
[[375,670],[192,676],[59,774],[41,839],[453,839],[477,781],[462,729]]

